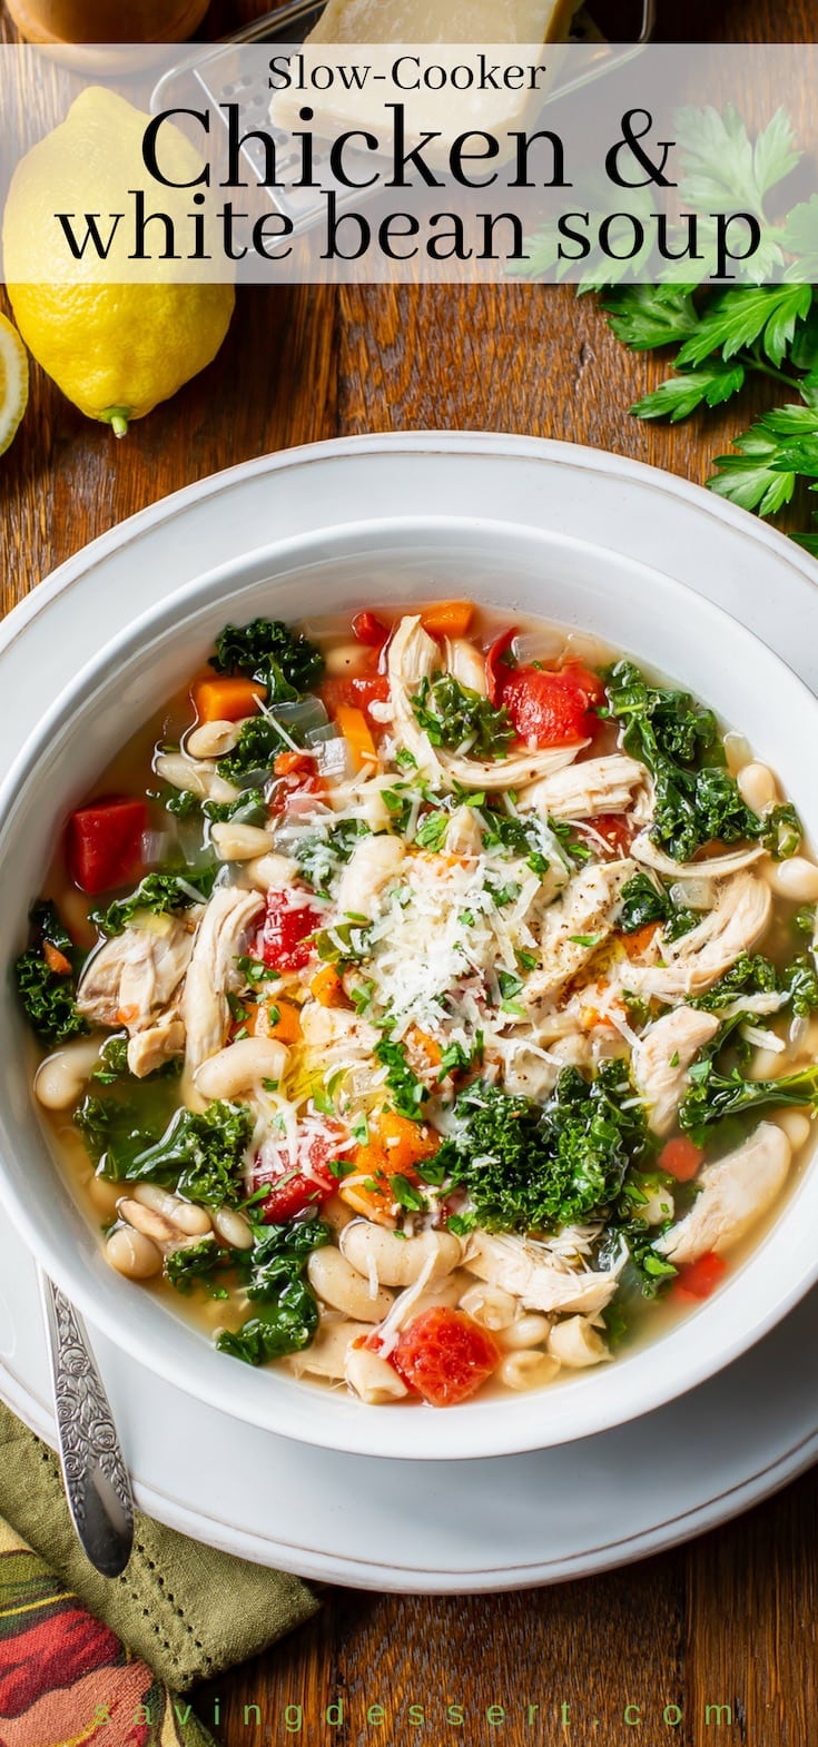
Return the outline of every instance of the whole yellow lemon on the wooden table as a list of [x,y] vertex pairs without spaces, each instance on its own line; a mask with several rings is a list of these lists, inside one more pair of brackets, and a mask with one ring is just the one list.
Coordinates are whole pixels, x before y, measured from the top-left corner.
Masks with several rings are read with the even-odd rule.
[[[3,213],[7,292],[19,332],[44,370],[91,419],[124,435],[215,358],[232,314],[232,285],[173,278],[178,262],[129,259],[133,231],[115,227],[105,260],[84,250],[70,259],[56,213],[122,213],[128,192],[142,189],[149,210],[159,206],[182,222],[189,189],[163,189],[142,161],[142,136],[150,117],[112,91],[91,86],[72,103],[65,122],[17,164]],[[201,157],[173,124],[163,124],[163,171],[191,182]],[[187,271],[191,266],[187,264]],[[157,283],[157,274],[164,273]]]

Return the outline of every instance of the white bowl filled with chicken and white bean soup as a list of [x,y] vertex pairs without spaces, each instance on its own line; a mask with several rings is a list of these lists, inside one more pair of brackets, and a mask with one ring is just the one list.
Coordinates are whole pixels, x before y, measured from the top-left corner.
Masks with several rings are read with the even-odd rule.
[[201,578],[3,795],[2,1195],[308,1441],[544,1447],[816,1277],[818,704],[669,577],[435,521]]

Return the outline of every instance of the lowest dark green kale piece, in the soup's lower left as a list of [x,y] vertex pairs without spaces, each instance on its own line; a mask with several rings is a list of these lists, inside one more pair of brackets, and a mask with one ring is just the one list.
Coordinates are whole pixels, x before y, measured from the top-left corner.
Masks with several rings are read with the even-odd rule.
[[318,1305],[304,1268],[313,1249],[323,1247],[329,1239],[329,1228],[315,1212],[257,1230],[257,1242],[250,1254],[239,1258],[239,1267],[246,1296],[259,1310],[238,1331],[222,1329],[217,1336],[220,1352],[245,1364],[267,1364],[309,1347],[318,1328]]

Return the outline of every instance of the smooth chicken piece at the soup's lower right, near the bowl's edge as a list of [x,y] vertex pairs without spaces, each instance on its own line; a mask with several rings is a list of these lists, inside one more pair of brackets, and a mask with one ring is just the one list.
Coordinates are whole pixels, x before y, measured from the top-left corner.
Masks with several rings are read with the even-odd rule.
[[669,1261],[722,1256],[767,1212],[785,1184],[792,1146],[773,1122],[762,1122],[743,1146],[699,1176],[701,1193],[690,1212],[657,1239]]

